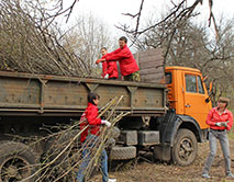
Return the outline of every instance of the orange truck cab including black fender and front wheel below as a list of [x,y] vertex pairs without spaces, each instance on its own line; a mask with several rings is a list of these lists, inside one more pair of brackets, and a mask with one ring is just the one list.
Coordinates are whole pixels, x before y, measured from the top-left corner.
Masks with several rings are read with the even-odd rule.
[[154,156],[179,166],[189,166],[196,160],[198,143],[207,140],[205,120],[212,105],[200,70],[171,66],[165,68],[168,112],[152,121],[158,123],[160,144]]

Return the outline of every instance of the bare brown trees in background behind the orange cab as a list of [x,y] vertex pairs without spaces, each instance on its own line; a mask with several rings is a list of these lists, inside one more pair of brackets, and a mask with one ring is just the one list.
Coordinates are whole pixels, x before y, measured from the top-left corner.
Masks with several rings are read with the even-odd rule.
[[[220,18],[216,22],[219,38],[216,38],[215,32],[212,36],[212,32],[205,26],[205,23],[194,24],[192,19],[180,22],[180,26],[177,26],[172,37],[168,34],[171,30],[174,31],[174,26],[160,24],[137,38],[135,46],[138,49],[161,47],[166,55],[166,65],[198,68],[203,75],[209,76],[210,81],[215,82],[216,98],[220,95],[232,98],[233,21],[233,19]],[[151,26],[154,20],[148,22],[148,26]]]

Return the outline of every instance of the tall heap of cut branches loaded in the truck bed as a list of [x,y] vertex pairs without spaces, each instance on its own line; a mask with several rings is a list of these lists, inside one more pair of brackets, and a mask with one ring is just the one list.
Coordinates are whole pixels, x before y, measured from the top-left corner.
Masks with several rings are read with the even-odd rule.
[[37,0],[1,0],[0,70],[90,77],[53,20]]

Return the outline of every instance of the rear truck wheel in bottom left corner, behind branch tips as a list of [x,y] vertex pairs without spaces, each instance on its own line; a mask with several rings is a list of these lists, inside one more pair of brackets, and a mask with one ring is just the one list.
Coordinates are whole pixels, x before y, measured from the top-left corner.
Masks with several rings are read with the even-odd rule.
[[[21,181],[33,174],[36,158],[22,143],[0,144],[0,182]],[[27,180],[33,182],[34,178]]]

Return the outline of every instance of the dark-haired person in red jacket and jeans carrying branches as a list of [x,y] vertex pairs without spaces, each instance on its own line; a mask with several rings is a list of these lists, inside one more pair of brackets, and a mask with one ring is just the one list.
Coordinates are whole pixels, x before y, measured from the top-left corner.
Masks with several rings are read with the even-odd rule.
[[[85,113],[81,116],[81,126],[80,129],[85,129],[88,125],[89,127],[81,133],[80,141],[82,144],[82,162],[80,164],[77,181],[83,182],[86,169],[90,162],[90,152],[97,147],[99,144],[99,135],[100,135],[100,126],[104,124],[105,126],[110,127],[111,123],[101,120],[98,117],[98,103],[99,103],[99,94],[90,92],[88,94],[88,106]],[[108,155],[107,151],[103,149],[101,151],[101,170],[102,170],[102,181],[103,182],[115,182],[115,179],[109,179],[108,177]]]

